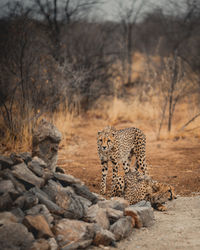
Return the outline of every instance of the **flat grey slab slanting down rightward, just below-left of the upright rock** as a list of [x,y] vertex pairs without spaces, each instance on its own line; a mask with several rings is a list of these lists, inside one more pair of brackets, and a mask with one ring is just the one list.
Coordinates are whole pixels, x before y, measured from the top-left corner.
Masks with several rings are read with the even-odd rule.
[[18,179],[29,184],[29,188],[31,186],[41,187],[44,185],[44,180],[37,177],[32,171],[30,171],[25,163],[13,166],[12,174]]

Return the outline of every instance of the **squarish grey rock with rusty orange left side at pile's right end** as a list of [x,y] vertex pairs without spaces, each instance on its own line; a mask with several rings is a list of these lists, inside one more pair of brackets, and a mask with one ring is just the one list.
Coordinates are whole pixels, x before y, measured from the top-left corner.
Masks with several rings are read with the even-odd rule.
[[125,215],[131,216],[135,220],[137,228],[149,227],[154,223],[154,213],[152,207],[135,207],[130,206],[125,209]]

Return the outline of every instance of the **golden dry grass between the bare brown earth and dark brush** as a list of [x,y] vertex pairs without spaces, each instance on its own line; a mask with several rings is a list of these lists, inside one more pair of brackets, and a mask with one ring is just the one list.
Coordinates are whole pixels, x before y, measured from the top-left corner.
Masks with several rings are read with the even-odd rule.
[[[159,57],[151,58],[151,61],[153,62],[152,67],[158,64],[159,60]],[[163,82],[161,81],[159,84],[159,82],[156,82],[152,76],[148,75],[148,73],[146,74],[146,65],[147,58],[145,56],[140,53],[136,53],[133,56],[132,79],[144,79],[144,82],[147,82],[150,86],[148,91],[146,90],[147,86],[144,85],[136,88],[130,88],[128,89],[128,99],[119,99],[117,96],[119,91],[122,90],[124,82],[119,76],[116,77],[116,79],[113,78],[113,83],[115,85],[115,97],[102,97],[101,100],[98,101],[98,105],[96,105],[93,110],[88,112],[85,120],[87,120],[87,122],[91,122],[91,125],[92,120],[96,118],[106,121],[107,124],[114,126],[119,123],[130,123],[133,126],[141,128],[142,130],[151,132],[152,137],[156,140],[161,121],[164,98],[161,86],[165,84],[167,79],[161,79]],[[118,67],[119,70],[121,69],[118,63],[116,63],[115,66]],[[180,131],[180,128],[199,112],[197,98],[198,96],[193,94],[192,96],[182,100],[181,103],[177,104],[173,118],[172,130],[170,133],[167,131],[167,107],[166,117],[160,131],[159,140],[175,139],[177,137],[184,138],[189,136],[200,138],[200,117],[193,121],[183,131]],[[77,105],[77,110],[78,109],[79,106]],[[55,124],[55,126],[61,131],[63,136],[61,147],[66,147],[67,141],[69,141],[73,135],[76,134],[76,131],[84,118],[81,118],[80,115],[77,116],[76,110],[70,113],[63,106],[60,106],[57,110],[58,111],[53,115],[45,115],[43,117]],[[24,126],[21,129],[20,136],[17,138],[10,134],[1,118],[0,128],[0,133],[1,131],[4,131],[1,135],[0,144],[0,150],[2,153],[6,151],[17,152],[31,149],[31,126]]]

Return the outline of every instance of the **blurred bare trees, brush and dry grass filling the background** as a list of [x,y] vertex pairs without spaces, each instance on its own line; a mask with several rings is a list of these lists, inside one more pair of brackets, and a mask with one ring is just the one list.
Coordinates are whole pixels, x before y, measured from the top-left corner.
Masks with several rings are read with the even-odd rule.
[[61,131],[86,114],[149,121],[157,139],[198,119],[200,1],[104,4],[1,4],[1,148],[28,149],[43,116]]

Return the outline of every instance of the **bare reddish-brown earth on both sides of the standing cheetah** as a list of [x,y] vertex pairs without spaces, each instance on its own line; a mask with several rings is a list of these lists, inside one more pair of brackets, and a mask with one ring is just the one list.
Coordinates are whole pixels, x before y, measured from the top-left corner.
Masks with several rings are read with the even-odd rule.
[[[80,178],[91,191],[99,193],[101,167],[97,154],[96,135],[108,123],[102,119],[83,119],[74,125],[70,135],[62,141],[58,165],[68,174]],[[194,196],[200,192],[200,139],[156,140],[144,124],[121,122],[116,128],[139,127],[147,136],[147,163],[150,175],[159,181],[174,185],[177,194]],[[108,175],[108,189],[111,180]]]

